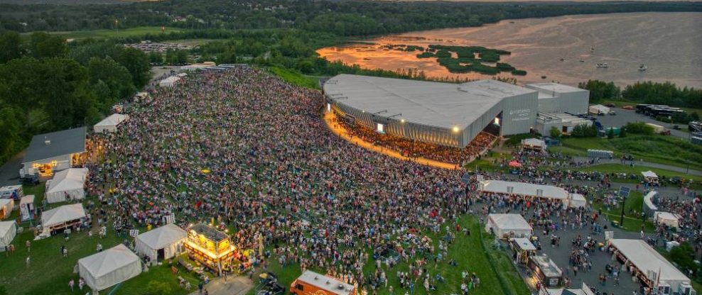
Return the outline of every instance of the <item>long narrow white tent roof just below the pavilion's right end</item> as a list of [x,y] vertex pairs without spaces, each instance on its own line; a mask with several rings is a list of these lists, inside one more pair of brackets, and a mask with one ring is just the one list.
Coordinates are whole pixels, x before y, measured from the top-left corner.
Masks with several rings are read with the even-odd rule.
[[524,182],[505,182],[503,180],[484,180],[478,184],[478,191],[487,191],[497,194],[517,194],[520,196],[536,196],[546,199],[559,199],[566,201],[568,191],[560,187],[541,184],[527,184]]

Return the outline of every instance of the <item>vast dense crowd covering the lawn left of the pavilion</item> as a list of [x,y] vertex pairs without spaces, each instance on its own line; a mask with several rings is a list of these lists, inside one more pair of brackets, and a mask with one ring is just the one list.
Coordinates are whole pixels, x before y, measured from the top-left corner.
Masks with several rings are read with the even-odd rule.
[[[264,235],[273,251],[256,253],[254,268],[275,254],[281,265],[322,269],[364,289],[406,276],[417,288],[441,285],[428,265],[448,263],[432,259],[448,245],[435,247],[420,229],[438,233],[465,212],[461,172],[370,152],[323,131],[320,92],[257,69],[184,80],[152,91],[117,133],[97,135],[108,155],[90,182],[101,223],[157,226],[171,213],[178,223],[214,219],[238,230],[238,249],[255,252],[254,237]],[[373,261],[369,247],[392,251],[377,251],[376,268],[361,272]],[[411,267],[392,268],[402,262]],[[465,292],[479,276],[465,276]]]

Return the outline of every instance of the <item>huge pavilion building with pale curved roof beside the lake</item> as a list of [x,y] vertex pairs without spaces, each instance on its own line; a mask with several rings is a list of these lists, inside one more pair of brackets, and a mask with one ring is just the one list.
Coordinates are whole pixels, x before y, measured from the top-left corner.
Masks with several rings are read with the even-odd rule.
[[567,114],[587,113],[589,92],[555,83],[520,87],[497,80],[451,84],[340,74],[323,90],[327,111],[351,126],[450,147],[465,147],[490,125],[499,135],[541,132],[539,112],[565,118],[542,124],[549,128],[591,124]]

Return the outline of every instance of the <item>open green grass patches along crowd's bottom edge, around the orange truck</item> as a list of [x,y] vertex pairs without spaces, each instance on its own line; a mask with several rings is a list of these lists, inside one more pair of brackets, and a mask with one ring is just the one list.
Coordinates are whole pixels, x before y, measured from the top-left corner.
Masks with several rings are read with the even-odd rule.
[[[475,272],[480,278],[480,287],[473,289],[470,294],[529,294],[529,289],[517,270],[512,265],[512,260],[507,255],[507,252],[501,250],[492,250],[487,245],[492,243],[492,240],[485,234],[485,240],[483,240],[482,235],[480,235],[482,227],[478,223],[474,216],[463,216],[460,219],[461,226],[468,226],[470,228],[470,236],[463,235],[463,233],[458,233],[456,239],[448,247],[448,257],[445,257],[443,262],[434,263],[433,260],[429,261],[425,266],[428,269],[431,277],[436,274],[441,274],[441,276],[446,279],[444,283],[438,283],[438,290],[431,291],[431,294],[459,294],[460,293],[460,273],[463,271],[468,271],[469,273]],[[441,233],[429,233],[423,232],[432,239],[432,242],[438,249],[438,243],[441,238],[446,235],[446,230],[441,227]],[[486,249],[483,250],[483,241],[485,241]],[[375,262],[372,259],[372,252],[369,250],[369,256],[371,257],[367,265],[364,267],[364,272],[368,275],[372,274],[375,270]],[[418,259],[419,257],[415,257]],[[453,267],[448,264],[448,261],[455,259],[458,262],[458,266]],[[389,279],[388,286],[392,286],[395,294],[404,294],[405,291],[409,292],[409,289],[400,289],[399,280],[397,279],[396,272],[408,272],[409,262],[401,262],[392,269],[383,269],[387,274]],[[324,273],[323,269],[315,269],[318,272]],[[298,265],[286,265],[286,267],[281,267],[277,260],[274,258],[271,260],[271,265],[269,271],[274,272],[279,276],[279,283],[288,288],[300,274],[300,267]],[[415,294],[425,295],[428,294],[421,286],[422,282],[416,282]],[[381,287],[377,289],[377,294],[389,294],[388,289]],[[369,290],[370,292],[370,290]],[[254,294],[254,290],[249,291],[249,294]]]

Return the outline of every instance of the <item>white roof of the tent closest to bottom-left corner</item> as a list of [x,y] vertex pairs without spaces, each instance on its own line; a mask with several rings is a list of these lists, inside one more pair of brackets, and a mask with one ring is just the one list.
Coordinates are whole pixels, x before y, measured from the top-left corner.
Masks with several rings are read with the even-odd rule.
[[82,257],[78,263],[85,267],[93,277],[102,277],[114,272],[115,269],[134,263],[136,260],[139,260],[139,256],[136,256],[125,245],[119,244],[88,257]]

